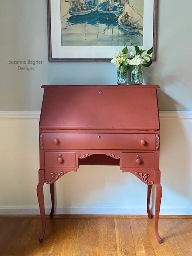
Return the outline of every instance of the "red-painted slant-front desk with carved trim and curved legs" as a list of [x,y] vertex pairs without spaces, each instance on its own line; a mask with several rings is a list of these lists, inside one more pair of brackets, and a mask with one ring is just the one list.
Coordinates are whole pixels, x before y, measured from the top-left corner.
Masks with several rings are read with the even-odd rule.
[[[158,85],[44,85],[39,124],[40,170],[37,186],[45,233],[44,183],[50,184],[54,213],[54,182],[80,165],[118,165],[147,185],[147,213],[152,184],[156,187],[154,229],[162,187],[159,170]],[[110,167],[109,167],[110,168]],[[83,184],[82,184],[83,186]]]

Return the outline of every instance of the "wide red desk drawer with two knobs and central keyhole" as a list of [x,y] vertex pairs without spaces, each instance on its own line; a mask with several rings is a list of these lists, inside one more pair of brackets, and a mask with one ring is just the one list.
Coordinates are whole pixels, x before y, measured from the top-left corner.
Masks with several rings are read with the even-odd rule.
[[45,149],[155,150],[156,134],[45,133]]

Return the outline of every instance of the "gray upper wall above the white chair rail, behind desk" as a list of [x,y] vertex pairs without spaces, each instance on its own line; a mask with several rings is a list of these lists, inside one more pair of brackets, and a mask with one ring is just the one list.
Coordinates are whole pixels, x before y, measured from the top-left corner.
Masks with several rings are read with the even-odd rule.
[[[192,110],[192,1],[160,0],[158,56],[144,69],[160,110]],[[0,111],[36,111],[42,84],[116,84],[108,62],[48,62],[46,0],[0,0]],[[8,60],[44,60],[30,72]]]

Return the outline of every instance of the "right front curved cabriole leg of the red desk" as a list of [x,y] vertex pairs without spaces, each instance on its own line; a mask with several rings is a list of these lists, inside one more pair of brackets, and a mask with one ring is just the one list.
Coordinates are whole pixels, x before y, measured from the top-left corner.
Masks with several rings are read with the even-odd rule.
[[161,238],[158,232],[158,220],[159,220],[159,212],[161,205],[161,197],[162,197],[162,186],[160,184],[155,184],[156,187],[156,197],[155,197],[155,220],[154,220],[154,228],[155,228],[155,236],[158,244],[161,243]]

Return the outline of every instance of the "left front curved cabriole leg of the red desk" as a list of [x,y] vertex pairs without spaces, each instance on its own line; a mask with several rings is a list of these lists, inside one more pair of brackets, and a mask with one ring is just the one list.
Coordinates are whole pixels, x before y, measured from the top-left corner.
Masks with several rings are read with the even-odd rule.
[[42,222],[42,230],[39,236],[39,242],[43,242],[43,237],[45,234],[45,206],[44,206],[44,195],[43,195],[43,185],[45,182],[45,171],[39,170],[39,183],[37,185],[37,197],[39,202],[40,214],[41,214],[41,222]]

